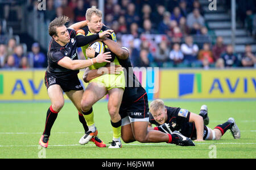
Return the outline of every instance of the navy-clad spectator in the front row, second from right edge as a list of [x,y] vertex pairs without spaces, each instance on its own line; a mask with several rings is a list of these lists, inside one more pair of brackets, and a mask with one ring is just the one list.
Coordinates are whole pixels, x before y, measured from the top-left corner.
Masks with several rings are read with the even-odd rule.
[[224,60],[225,67],[240,66],[240,61],[238,60],[236,53],[234,53],[232,44],[226,46],[226,52],[221,55],[221,59]]

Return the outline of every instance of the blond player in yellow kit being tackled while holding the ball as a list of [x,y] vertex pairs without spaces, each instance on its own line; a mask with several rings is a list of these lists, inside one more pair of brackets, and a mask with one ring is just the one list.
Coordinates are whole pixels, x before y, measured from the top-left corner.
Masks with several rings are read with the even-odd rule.
[[[96,9],[95,6],[92,6],[86,10],[86,21],[84,21],[84,23],[87,26],[82,27],[82,31],[78,31],[77,35],[83,35],[81,32],[84,32],[83,36],[88,36],[108,30],[108,28],[102,24],[102,12]],[[112,32],[109,38],[116,41],[114,32]],[[89,44],[81,47],[86,59],[88,59],[88,50],[90,49],[88,46]],[[116,56],[117,57],[112,55],[111,61],[115,65],[119,65],[118,58],[123,59],[125,55],[123,53],[118,53]],[[89,69],[97,69],[103,67],[104,65],[106,65],[106,63],[93,64],[89,67]],[[123,71],[121,71],[119,74],[104,74],[89,81],[81,101],[82,113],[84,114],[85,120],[88,123],[89,131],[86,132],[85,135],[79,140],[80,144],[88,143],[93,136],[97,135],[98,131],[94,123],[92,106],[107,93],[109,94],[108,111],[113,129],[113,142],[121,143],[121,117],[118,114],[118,111],[121,105],[124,89],[125,76]],[[119,146],[119,144],[116,144],[115,146],[112,145],[109,148],[116,148],[116,146]]]

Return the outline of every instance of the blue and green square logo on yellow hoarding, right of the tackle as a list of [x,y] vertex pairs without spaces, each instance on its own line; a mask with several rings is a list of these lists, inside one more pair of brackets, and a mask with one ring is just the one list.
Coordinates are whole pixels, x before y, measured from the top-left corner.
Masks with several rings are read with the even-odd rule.
[[202,93],[201,73],[179,73],[179,97],[186,94]]

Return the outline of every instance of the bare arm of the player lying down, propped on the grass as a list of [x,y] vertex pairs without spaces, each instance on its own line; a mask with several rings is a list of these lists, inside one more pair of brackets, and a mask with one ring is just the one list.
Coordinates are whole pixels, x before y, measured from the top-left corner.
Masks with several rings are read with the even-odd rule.
[[189,122],[194,122],[196,126],[196,141],[204,141],[204,121],[198,114],[190,113]]

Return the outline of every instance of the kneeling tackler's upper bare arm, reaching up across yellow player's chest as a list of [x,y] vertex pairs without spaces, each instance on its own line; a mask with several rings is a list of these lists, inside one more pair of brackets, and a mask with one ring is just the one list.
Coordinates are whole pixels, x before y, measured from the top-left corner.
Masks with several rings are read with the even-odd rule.
[[103,42],[108,45],[110,51],[112,51],[119,59],[126,60],[129,57],[128,50],[122,48],[117,42],[107,38],[105,38]]

